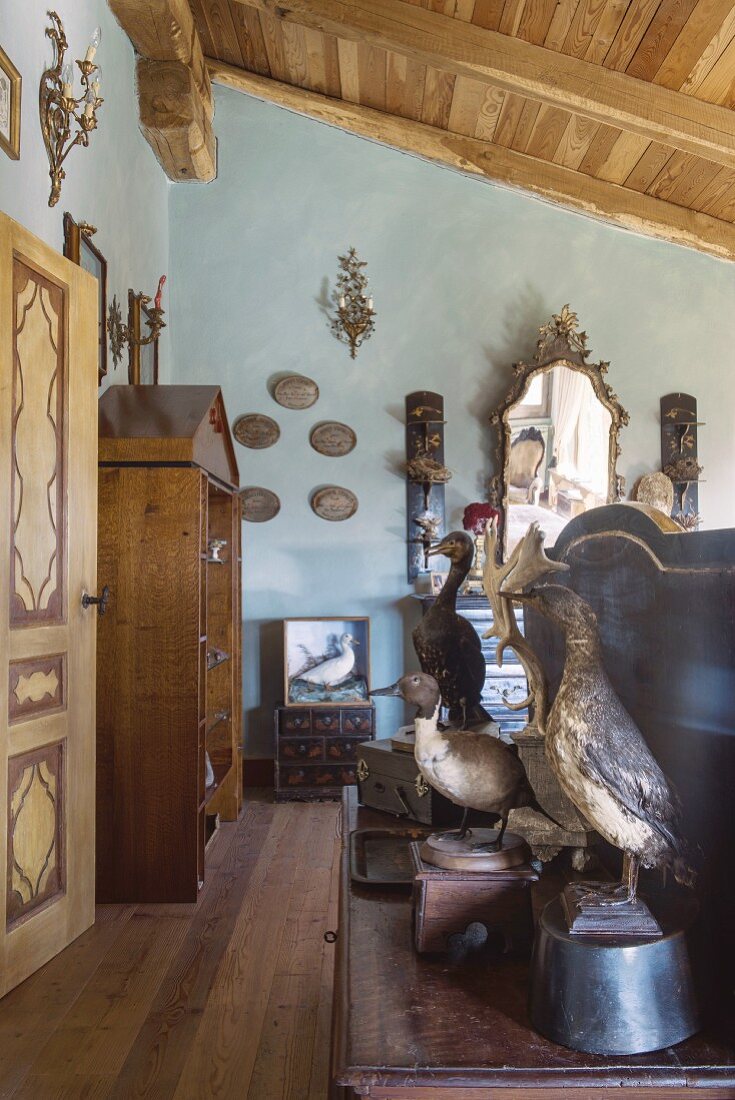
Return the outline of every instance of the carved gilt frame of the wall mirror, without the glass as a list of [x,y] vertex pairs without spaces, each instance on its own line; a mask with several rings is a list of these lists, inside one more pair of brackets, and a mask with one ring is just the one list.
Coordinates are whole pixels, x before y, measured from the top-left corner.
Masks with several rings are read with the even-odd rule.
[[555,366],[568,366],[572,371],[585,374],[592,383],[597,399],[610,413],[610,452],[607,468],[607,503],[619,501],[625,492],[625,479],[617,473],[616,464],[621,454],[621,428],[629,422],[629,416],[623,408],[617,394],[605,382],[610,363],[601,360],[599,363],[588,363],[591,354],[586,345],[586,332],[579,331],[577,314],[562,307],[560,314],[553,314],[550,321],[540,327],[539,339],[536,342],[536,353],[530,363],[513,364],[514,378],[505,400],[490,415],[490,422],[496,428],[495,470],[489,483],[490,504],[502,514],[503,536],[498,539],[498,552],[505,552],[507,525],[505,518],[508,509],[507,484],[505,473],[511,454],[511,421],[509,410],[523,398],[536,374],[546,374]]

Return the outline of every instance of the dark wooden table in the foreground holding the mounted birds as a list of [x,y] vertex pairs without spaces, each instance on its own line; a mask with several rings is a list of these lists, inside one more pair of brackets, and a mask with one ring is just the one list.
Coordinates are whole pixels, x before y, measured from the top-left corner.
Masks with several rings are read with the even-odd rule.
[[[354,789],[344,791],[342,816],[334,1100],[586,1100],[606,1089],[615,1089],[615,1100],[735,1098],[732,1021],[654,1054],[579,1054],[531,1031],[526,961],[450,964],[417,955],[410,892],[350,881],[350,832],[398,823],[359,806]],[[539,902],[544,890],[557,889],[552,876],[542,876]]]

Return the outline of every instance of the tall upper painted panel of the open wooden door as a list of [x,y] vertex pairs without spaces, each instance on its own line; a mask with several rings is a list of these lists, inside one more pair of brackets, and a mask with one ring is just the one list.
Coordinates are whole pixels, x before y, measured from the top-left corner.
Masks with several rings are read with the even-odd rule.
[[65,617],[64,292],[13,261],[10,623]]

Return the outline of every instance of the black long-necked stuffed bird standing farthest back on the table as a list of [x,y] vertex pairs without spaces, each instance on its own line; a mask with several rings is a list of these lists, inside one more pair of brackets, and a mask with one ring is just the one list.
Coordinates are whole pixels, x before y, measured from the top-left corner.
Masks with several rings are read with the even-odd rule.
[[414,648],[424,672],[439,684],[449,721],[465,729],[471,722],[489,722],[480,704],[485,683],[485,659],[474,628],[457,614],[457,593],[470,572],[474,540],[452,531],[431,547],[428,557],[443,554],[451,569],[445,586],[414,630]]

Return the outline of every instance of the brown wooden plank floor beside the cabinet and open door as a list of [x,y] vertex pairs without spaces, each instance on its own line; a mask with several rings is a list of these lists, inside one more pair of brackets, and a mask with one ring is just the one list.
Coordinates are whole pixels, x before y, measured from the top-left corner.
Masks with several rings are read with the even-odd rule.
[[326,1100],[338,832],[250,792],[196,906],[99,906],[0,1001],[0,1100]]

